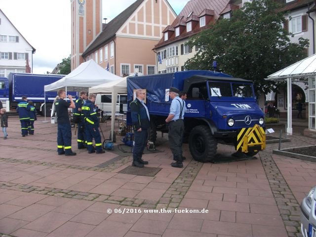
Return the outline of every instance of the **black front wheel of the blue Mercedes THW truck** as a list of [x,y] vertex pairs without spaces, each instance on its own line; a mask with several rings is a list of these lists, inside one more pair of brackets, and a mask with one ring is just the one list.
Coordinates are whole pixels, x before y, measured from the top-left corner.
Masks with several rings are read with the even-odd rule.
[[208,126],[198,125],[190,132],[189,147],[195,160],[209,162],[216,155],[217,142]]

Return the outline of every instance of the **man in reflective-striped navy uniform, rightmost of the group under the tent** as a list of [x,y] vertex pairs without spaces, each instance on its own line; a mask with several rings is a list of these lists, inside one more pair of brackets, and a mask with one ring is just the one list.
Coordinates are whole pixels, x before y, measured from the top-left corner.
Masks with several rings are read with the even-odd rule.
[[[82,113],[85,120],[85,135],[87,139],[88,153],[105,153],[102,150],[101,135],[99,132],[99,118],[97,117],[96,108],[94,106],[95,94],[89,94],[89,99],[82,105]],[[92,146],[92,139],[95,141],[95,150]]]

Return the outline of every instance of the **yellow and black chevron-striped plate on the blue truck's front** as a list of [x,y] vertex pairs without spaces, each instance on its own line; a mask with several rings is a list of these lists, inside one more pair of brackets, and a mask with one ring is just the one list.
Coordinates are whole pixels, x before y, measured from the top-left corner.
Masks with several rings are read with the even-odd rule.
[[242,128],[237,135],[236,151],[242,153],[257,152],[266,148],[266,132],[263,127]]

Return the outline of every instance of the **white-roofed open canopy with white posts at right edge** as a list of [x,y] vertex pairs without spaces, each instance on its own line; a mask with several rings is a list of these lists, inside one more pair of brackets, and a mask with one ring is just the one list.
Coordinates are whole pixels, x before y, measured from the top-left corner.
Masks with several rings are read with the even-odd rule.
[[[294,63],[274,74],[266,80],[287,81],[287,133],[292,134],[292,82],[308,81],[309,83],[309,129],[315,129],[316,109],[316,54]],[[314,111],[314,112],[313,112]],[[313,122],[314,121],[314,122]]]

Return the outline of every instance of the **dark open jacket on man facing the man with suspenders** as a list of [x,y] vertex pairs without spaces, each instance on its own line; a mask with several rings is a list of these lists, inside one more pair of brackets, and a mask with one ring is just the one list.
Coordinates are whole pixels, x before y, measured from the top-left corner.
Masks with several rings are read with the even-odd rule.
[[139,128],[150,128],[146,109],[139,99],[136,98],[130,103],[130,114],[132,117],[132,126],[135,131],[137,131]]

